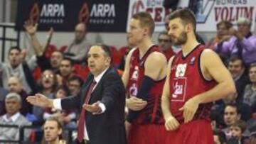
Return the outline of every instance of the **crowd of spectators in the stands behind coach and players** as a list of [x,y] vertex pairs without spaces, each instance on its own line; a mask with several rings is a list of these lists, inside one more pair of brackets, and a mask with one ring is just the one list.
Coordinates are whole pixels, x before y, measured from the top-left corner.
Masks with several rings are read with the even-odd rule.
[[[197,35],[206,48],[220,55],[237,89],[236,94],[215,101],[212,107],[211,123],[216,143],[249,143],[256,137],[256,35],[250,31],[251,24],[247,18],[238,19],[237,28],[228,21],[220,21],[216,24],[217,35],[209,43],[204,43]],[[28,60],[23,48],[11,47],[8,62],[0,62],[0,124],[42,126],[44,121],[54,117],[65,129],[75,131],[78,111],[31,106],[26,97],[41,93],[51,99],[63,99],[80,92],[89,73],[86,60],[92,45],[86,40],[86,26],[78,23],[74,40],[61,48],[50,43],[53,29],[42,44],[36,38],[36,23],[26,21],[24,28],[36,54]],[[167,31],[168,25],[166,31],[159,33],[157,45],[169,60],[179,48],[172,45]],[[114,43],[109,45],[112,66],[120,76],[127,53],[133,48],[129,43],[124,45],[122,48],[115,48]],[[24,135],[29,140],[41,140],[40,129],[26,131]],[[15,128],[0,128],[0,140],[18,140],[18,133]]]

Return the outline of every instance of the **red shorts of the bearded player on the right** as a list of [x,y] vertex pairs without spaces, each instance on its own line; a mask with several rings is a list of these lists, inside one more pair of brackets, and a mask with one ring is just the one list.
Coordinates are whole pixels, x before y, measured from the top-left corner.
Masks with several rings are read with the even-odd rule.
[[166,144],[213,144],[213,131],[206,120],[183,123],[167,135]]

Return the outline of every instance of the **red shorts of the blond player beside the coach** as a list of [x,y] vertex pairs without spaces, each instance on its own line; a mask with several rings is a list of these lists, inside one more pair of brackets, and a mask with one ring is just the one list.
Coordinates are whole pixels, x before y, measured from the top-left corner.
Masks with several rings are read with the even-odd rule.
[[164,124],[132,124],[129,131],[129,144],[164,144],[167,131]]

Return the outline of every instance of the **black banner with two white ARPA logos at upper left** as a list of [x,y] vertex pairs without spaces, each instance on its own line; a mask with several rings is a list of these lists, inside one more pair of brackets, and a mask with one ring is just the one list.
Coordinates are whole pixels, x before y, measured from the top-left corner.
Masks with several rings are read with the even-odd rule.
[[38,31],[74,31],[77,23],[87,23],[90,32],[124,32],[129,0],[19,0],[16,28],[31,20]]

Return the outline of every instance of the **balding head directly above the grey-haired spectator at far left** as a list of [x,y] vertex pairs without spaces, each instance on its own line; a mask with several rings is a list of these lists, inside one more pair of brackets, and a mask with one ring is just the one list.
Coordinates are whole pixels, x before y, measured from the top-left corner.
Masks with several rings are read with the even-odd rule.
[[20,93],[22,91],[21,80],[18,77],[10,77],[8,79],[8,91]]

